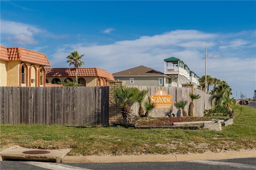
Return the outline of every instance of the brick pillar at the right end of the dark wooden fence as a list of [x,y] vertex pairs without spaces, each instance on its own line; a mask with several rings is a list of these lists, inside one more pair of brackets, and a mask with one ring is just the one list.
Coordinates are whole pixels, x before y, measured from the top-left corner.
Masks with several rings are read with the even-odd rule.
[[109,81],[109,124],[122,119],[121,108],[116,104],[111,89],[125,84],[126,81]]

